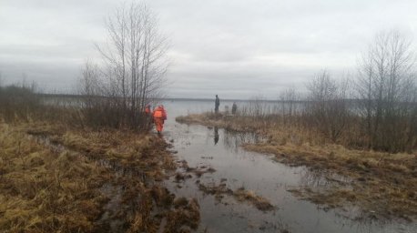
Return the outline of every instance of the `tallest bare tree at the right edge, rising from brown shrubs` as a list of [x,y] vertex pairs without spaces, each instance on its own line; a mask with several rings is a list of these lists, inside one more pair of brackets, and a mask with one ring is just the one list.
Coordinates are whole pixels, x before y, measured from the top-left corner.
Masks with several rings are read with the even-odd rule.
[[415,92],[414,62],[411,41],[398,31],[376,35],[361,57],[356,86],[368,147],[403,149],[403,122],[412,114],[410,104]]

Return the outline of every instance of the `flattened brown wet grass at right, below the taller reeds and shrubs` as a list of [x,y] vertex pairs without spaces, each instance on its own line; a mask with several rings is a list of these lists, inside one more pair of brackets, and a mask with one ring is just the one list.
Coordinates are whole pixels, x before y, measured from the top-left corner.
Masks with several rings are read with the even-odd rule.
[[[337,145],[284,146],[259,144],[247,149],[275,154],[275,158],[292,166],[308,166],[315,170],[330,170],[350,177],[347,184],[336,184],[325,190],[301,192],[302,198],[330,207],[342,203],[356,204],[366,212],[376,212],[384,218],[417,217],[417,157],[410,154],[386,154],[347,149]],[[330,180],[331,181],[331,180]],[[346,189],[346,186],[351,188]]]

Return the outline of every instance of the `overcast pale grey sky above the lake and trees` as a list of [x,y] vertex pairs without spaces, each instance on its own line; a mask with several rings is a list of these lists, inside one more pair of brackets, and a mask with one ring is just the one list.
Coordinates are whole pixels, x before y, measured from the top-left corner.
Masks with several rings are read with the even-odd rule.
[[[117,0],[0,0],[0,82],[71,93]],[[354,76],[374,35],[415,42],[414,0],[145,0],[168,36],[166,96],[276,99],[322,70]]]

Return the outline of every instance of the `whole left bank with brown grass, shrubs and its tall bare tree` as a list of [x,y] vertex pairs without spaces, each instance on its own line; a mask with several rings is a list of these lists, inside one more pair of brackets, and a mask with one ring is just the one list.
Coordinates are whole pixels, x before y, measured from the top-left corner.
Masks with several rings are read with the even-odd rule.
[[[159,97],[166,39],[140,3],[107,18],[106,65],[80,96],[0,86],[0,228],[10,232],[188,232],[196,200],[173,206],[158,181],[175,169],[143,110]],[[117,58],[116,58],[117,57]],[[63,100],[63,101],[60,101]],[[118,129],[118,130],[117,130]],[[123,131],[122,131],[123,130]],[[139,134],[137,134],[139,132]]]

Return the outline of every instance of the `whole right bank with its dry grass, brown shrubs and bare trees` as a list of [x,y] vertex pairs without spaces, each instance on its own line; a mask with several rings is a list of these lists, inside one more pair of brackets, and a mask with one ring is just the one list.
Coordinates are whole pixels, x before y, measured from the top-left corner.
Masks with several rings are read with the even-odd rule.
[[177,120],[259,133],[264,142],[247,149],[350,178],[336,182],[326,177],[333,186],[291,190],[302,198],[329,207],[351,203],[387,218],[416,218],[414,59],[405,37],[381,33],[362,57],[353,82],[336,81],[324,71],[310,81],[303,100],[290,89],[274,105],[249,101],[236,116],[206,113]]

